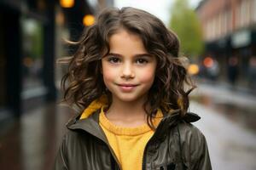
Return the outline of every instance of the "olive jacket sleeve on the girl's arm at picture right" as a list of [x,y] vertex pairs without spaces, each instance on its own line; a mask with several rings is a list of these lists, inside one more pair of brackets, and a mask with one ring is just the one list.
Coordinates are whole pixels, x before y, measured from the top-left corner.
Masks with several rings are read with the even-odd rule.
[[198,149],[196,152],[197,152],[196,154],[197,156],[195,157],[192,169],[193,170],[212,170],[209,151],[207,147],[207,140],[202,133],[199,138]]

